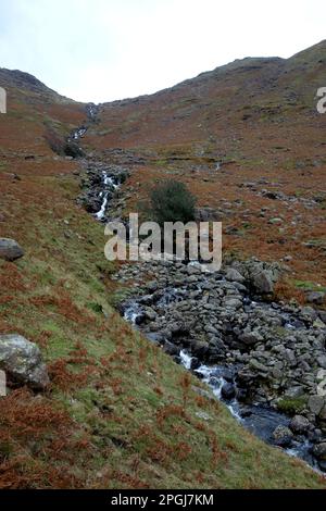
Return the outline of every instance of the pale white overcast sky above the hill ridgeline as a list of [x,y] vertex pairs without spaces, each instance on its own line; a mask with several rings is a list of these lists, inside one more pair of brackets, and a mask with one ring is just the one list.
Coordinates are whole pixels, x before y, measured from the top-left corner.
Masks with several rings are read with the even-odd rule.
[[0,67],[103,102],[326,37],[325,0],[0,0]]

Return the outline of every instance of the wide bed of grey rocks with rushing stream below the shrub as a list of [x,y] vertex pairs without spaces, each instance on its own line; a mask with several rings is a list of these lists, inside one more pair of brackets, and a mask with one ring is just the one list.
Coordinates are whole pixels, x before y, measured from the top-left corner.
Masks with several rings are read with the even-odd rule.
[[255,260],[124,265],[115,278],[136,287],[118,309],[244,427],[325,471],[325,312],[271,301],[277,275]]

